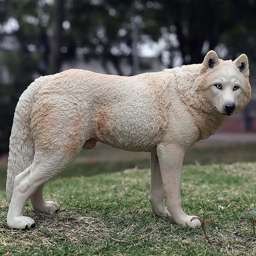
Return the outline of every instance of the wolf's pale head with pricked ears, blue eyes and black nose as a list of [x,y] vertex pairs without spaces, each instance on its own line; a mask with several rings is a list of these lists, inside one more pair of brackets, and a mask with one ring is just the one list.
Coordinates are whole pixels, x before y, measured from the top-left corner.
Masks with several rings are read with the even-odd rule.
[[220,114],[231,116],[249,103],[251,85],[245,54],[231,61],[219,59],[214,51],[208,52],[202,63],[200,77],[204,93],[208,96],[207,101]]

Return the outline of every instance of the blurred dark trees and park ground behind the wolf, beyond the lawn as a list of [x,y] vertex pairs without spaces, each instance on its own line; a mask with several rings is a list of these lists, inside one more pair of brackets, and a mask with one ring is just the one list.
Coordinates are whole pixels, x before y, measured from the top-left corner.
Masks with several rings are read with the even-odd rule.
[[[255,161],[255,13],[254,0],[0,0],[0,188],[15,106],[35,78],[69,68],[132,76],[201,63],[209,50],[222,59],[247,55],[252,99],[189,149],[185,164]],[[62,175],[135,166],[149,167],[149,154],[98,142]]]

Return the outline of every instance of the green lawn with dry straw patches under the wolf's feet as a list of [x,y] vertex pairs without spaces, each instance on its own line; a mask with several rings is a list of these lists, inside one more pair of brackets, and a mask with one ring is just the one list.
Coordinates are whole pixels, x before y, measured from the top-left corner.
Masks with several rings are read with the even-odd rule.
[[[73,165],[74,172],[76,165]],[[25,215],[30,231],[6,226],[9,203],[0,191],[0,255],[214,255],[202,229],[187,229],[151,211],[149,169],[60,178],[46,184],[44,197],[59,213]],[[218,211],[207,228],[219,255],[256,255],[250,223],[239,217],[255,210],[256,163],[185,165],[182,206],[188,214]]]

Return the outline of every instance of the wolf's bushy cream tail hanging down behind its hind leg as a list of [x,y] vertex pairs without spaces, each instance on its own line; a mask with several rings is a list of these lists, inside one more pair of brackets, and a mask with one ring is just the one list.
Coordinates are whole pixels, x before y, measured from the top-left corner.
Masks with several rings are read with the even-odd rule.
[[32,83],[22,93],[13,118],[8,158],[6,194],[9,201],[12,199],[15,177],[25,171],[33,162],[35,145],[31,135],[30,118],[35,85]]

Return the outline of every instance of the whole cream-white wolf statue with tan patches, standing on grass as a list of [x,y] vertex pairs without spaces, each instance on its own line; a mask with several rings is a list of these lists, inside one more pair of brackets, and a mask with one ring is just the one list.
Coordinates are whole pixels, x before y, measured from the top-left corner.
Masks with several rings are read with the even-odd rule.
[[250,97],[246,55],[223,61],[214,51],[202,64],[133,77],[70,69],[36,79],[21,95],[13,120],[7,225],[35,226],[23,216],[28,199],[36,211],[57,212],[57,203],[43,199],[44,183],[70,165],[82,148],[92,149],[100,141],[150,152],[153,212],[179,225],[201,226],[181,208],[185,151],[214,134]]

